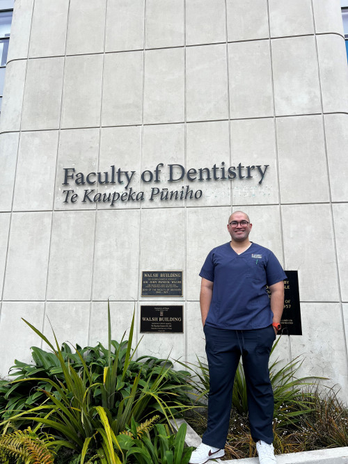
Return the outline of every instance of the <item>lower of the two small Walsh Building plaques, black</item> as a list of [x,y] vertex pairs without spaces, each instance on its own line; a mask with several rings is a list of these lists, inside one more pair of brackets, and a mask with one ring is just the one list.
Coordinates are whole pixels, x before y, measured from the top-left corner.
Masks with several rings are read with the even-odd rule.
[[141,306],[140,331],[183,333],[183,306]]

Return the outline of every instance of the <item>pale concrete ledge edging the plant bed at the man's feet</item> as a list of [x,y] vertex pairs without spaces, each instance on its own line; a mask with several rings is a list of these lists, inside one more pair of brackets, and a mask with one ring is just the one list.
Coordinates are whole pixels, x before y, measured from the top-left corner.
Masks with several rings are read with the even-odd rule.
[[[184,419],[177,419],[176,423],[171,420],[174,429],[177,430],[180,425],[186,422]],[[201,442],[200,436],[187,424],[187,434],[185,442],[189,447],[198,447]],[[232,459],[221,461],[215,459],[209,463],[223,464],[259,464],[258,458]],[[301,453],[278,454],[277,464],[348,464],[348,447],[317,449],[315,451],[303,451]]]

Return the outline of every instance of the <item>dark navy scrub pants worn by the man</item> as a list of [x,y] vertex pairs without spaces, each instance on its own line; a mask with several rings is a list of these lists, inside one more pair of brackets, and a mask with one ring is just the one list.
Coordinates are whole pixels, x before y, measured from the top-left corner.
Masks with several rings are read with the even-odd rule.
[[233,381],[242,356],[253,440],[273,442],[274,397],[269,381],[269,354],[276,339],[273,326],[254,330],[225,330],[204,326],[209,365],[207,431],[203,443],[223,449],[232,406]]

